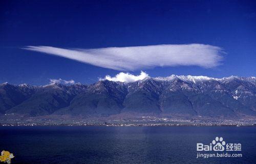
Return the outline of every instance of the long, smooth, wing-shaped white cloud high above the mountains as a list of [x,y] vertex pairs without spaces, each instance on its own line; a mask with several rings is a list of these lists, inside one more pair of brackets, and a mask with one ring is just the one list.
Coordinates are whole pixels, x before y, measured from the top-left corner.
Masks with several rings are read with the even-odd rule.
[[24,49],[114,70],[139,70],[157,66],[220,65],[222,49],[205,44],[167,44],[97,49],[65,49],[50,46],[27,46]]

